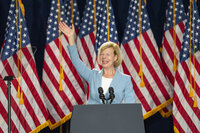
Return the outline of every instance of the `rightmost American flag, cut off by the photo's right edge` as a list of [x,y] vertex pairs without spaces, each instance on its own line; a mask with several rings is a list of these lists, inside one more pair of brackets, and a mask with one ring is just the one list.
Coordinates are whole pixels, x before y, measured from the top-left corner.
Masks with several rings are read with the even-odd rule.
[[[199,28],[199,12],[194,0],[192,0],[190,1],[190,6],[188,8],[186,28],[180,51],[180,64],[178,65],[175,76],[173,98],[173,121],[175,132],[200,132]],[[193,92],[193,96],[190,91]],[[195,103],[196,107],[194,106]]]

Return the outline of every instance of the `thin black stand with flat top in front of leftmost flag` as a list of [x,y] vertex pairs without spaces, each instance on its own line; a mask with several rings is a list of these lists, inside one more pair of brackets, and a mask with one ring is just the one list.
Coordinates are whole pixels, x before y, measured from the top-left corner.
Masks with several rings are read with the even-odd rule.
[[3,80],[8,81],[8,133],[11,133],[11,81],[13,76],[5,76]]

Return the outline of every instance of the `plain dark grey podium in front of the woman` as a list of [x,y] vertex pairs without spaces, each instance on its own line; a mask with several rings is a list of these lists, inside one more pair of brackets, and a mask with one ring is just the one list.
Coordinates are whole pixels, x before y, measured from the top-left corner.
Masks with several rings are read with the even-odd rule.
[[76,105],[70,133],[145,133],[141,105]]

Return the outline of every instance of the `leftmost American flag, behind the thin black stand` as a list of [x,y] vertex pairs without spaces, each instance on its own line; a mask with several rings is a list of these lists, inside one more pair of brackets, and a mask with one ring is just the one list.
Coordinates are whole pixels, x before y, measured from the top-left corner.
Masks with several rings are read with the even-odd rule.
[[[26,21],[19,1],[12,0],[5,40],[0,56],[0,132],[8,132],[8,91],[5,76],[11,83],[11,132],[38,132],[48,126],[39,78],[35,66]],[[18,43],[17,43],[18,42]],[[17,97],[19,88],[19,97]],[[23,100],[20,104],[20,100]]]

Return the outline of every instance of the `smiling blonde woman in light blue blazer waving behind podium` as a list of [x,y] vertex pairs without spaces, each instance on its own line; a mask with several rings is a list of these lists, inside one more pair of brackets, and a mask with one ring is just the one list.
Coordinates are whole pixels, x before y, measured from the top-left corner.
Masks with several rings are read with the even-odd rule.
[[[89,84],[89,99],[87,104],[102,104],[103,100],[99,97],[99,91],[104,92],[104,98],[109,99],[108,88],[113,88],[114,99],[112,103],[134,103],[134,90],[131,77],[125,75],[117,69],[122,62],[120,48],[113,42],[106,42],[98,50],[98,62],[102,70],[90,70],[79,58],[75,45],[75,29],[68,27],[64,22],[59,23],[59,29],[69,40],[67,46],[72,63],[80,74]],[[102,88],[102,90],[98,89]]]

